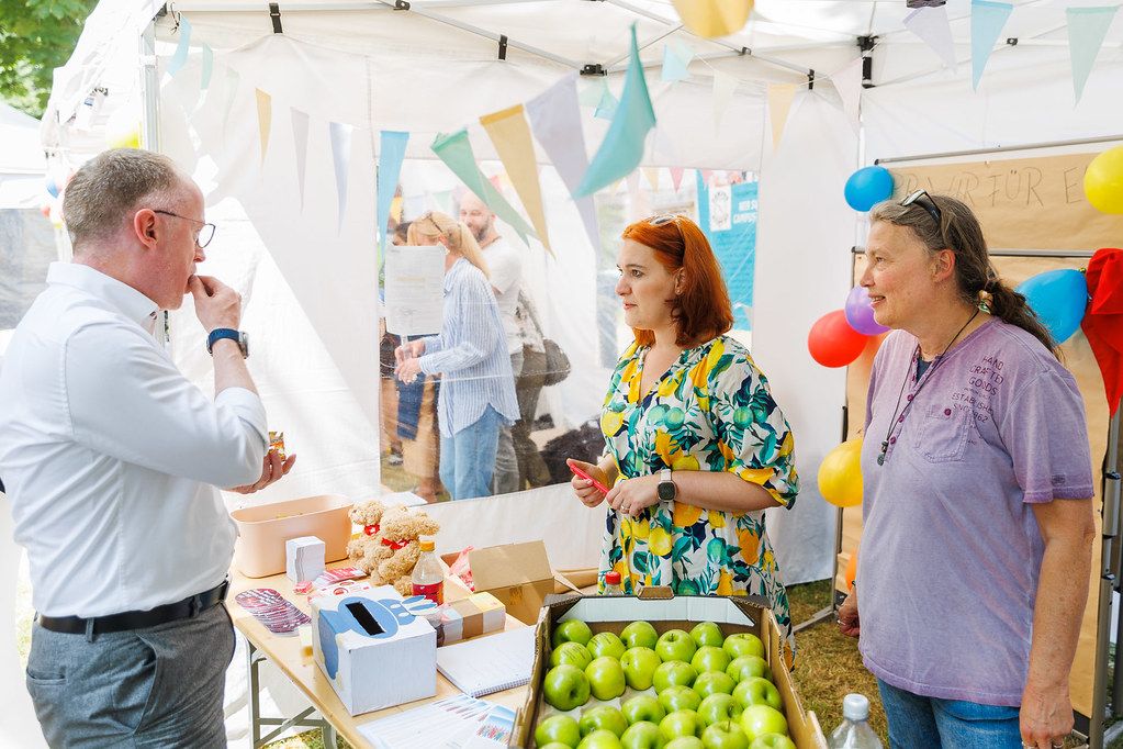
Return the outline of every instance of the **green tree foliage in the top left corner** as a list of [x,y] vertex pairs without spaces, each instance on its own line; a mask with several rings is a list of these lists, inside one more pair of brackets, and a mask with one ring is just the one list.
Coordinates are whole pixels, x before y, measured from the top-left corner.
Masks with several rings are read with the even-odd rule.
[[0,98],[42,117],[97,0],[0,0]]

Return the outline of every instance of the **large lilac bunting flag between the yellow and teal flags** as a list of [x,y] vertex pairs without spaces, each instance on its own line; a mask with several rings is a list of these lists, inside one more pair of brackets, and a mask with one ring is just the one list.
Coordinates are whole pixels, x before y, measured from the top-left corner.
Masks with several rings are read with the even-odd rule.
[[[542,145],[550,163],[566,189],[573,193],[581,184],[581,177],[588,168],[585,153],[585,135],[581,125],[581,109],[577,103],[577,74],[564,79],[527,102],[527,119]],[[596,209],[592,198],[576,201],[585,234],[593,244],[597,262],[601,258],[601,232],[596,228]]]

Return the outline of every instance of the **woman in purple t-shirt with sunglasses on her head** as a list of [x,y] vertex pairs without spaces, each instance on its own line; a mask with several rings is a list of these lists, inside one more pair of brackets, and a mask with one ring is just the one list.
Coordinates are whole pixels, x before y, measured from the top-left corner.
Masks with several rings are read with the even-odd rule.
[[962,202],[870,212],[861,555],[839,611],[895,748],[1060,747],[1092,564],[1084,403]]

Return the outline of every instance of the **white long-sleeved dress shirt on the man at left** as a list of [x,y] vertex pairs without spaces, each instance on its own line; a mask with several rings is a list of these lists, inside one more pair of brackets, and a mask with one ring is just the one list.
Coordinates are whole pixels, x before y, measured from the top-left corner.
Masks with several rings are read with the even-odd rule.
[[146,611],[211,588],[237,528],[216,486],[261,476],[265,409],[210,401],[153,337],[158,310],[54,263],[0,372],[0,476],[48,616]]

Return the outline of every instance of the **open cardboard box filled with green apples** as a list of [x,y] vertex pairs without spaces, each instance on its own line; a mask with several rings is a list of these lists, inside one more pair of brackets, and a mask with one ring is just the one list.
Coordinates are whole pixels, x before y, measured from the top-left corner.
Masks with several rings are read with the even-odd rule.
[[511,746],[825,749],[761,600],[548,596]]

